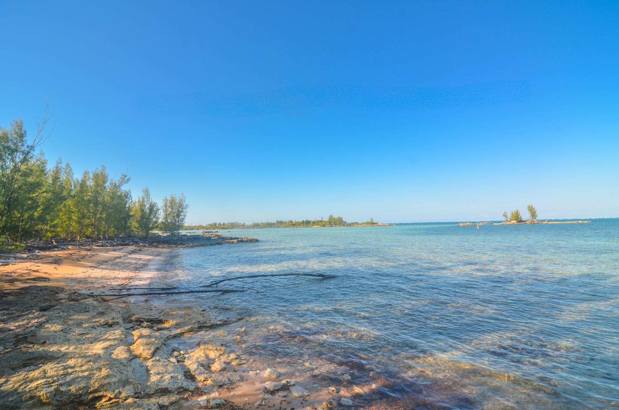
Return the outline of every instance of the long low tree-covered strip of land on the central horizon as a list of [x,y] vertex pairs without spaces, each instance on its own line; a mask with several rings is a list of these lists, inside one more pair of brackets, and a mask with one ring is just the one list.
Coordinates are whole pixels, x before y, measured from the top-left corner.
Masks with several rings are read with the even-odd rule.
[[366,227],[366,226],[395,226],[394,224],[385,224],[384,222],[374,222],[374,218],[370,218],[367,222],[346,222],[341,216],[329,215],[325,220],[321,219],[303,219],[303,220],[280,220],[275,222],[212,222],[206,225],[184,225],[183,230],[196,229],[260,229],[260,228],[324,228],[324,227]]

